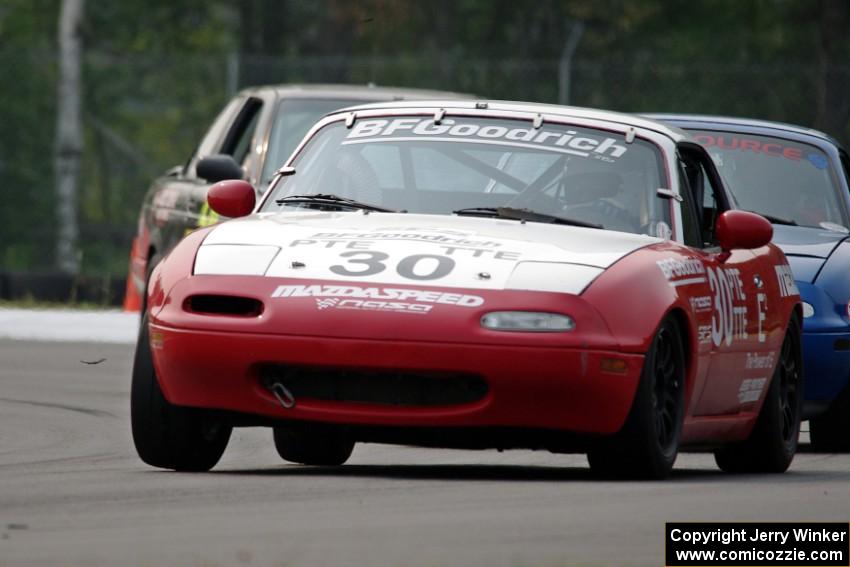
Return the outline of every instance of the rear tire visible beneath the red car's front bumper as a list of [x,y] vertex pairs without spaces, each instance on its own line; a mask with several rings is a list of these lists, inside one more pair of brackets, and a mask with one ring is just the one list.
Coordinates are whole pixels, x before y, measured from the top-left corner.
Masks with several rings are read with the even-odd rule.
[[351,456],[354,441],[344,427],[302,423],[275,427],[274,446],[290,463],[339,466]]

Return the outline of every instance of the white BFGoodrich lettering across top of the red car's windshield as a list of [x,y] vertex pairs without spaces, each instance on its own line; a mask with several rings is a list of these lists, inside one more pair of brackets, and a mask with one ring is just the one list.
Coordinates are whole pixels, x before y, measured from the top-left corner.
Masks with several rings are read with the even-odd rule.
[[480,124],[463,119],[395,118],[358,120],[343,145],[384,141],[473,142],[521,148],[535,148],[581,157],[613,161],[628,148],[620,139],[592,136],[587,131]]

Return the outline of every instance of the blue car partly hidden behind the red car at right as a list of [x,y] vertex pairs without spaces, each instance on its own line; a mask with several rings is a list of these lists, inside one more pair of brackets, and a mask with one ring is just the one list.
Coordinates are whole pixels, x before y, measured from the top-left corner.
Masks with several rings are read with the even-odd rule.
[[654,114],[705,146],[742,209],[774,225],[803,299],[812,446],[850,450],[850,158],[821,132],[762,120]]

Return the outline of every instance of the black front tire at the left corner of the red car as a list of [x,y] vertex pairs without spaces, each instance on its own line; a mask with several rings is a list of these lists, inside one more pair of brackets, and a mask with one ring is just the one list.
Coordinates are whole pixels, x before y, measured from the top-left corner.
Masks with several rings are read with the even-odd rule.
[[208,471],[218,463],[233,428],[208,411],[165,399],[151,357],[147,314],[142,317],[130,388],[133,443],[147,464],[176,471]]

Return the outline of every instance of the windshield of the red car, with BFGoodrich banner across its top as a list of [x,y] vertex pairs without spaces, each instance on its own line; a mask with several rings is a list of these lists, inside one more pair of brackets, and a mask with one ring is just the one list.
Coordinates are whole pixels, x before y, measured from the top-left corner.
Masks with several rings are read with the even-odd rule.
[[334,122],[290,164],[262,210],[292,195],[330,194],[392,210],[451,214],[513,207],[669,234],[658,148],[608,131],[528,120],[433,116]]

